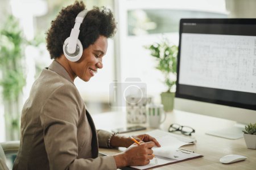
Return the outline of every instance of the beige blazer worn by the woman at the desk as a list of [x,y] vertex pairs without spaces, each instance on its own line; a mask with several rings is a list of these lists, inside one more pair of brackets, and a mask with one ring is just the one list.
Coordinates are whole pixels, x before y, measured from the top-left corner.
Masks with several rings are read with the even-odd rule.
[[98,157],[110,133],[96,131],[84,101],[57,61],[43,69],[24,104],[16,169],[117,169],[113,156]]

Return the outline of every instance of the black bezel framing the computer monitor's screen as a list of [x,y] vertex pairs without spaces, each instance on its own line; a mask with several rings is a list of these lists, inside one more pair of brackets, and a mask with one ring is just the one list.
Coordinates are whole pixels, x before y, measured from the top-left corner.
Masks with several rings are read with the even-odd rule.
[[[224,101],[224,100],[212,100],[203,97],[196,97],[191,95],[184,95],[179,93],[179,69],[180,69],[180,48],[181,48],[181,33],[183,33],[183,23],[205,23],[205,24],[254,24],[256,23],[256,19],[242,19],[242,18],[232,18],[232,19],[181,19],[180,20],[180,30],[179,30],[179,51],[177,54],[177,81],[176,81],[176,92],[175,97],[179,97],[181,99],[189,99],[196,101],[203,101],[207,103],[226,105],[230,107],[250,109],[256,111],[256,105],[242,104],[232,101]],[[194,86],[195,87],[195,86]]]

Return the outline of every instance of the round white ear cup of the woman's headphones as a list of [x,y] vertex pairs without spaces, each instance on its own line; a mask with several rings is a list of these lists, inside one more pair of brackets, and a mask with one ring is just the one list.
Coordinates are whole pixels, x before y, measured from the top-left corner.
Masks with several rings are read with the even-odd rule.
[[83,52],[83,48],[82,48],[82,43],[79,39],[77,39],[77,46],[76,46],[76,52],[71,54],[71,53],[68,53],[68,42],[69,42],[69,37],[64,41],[64,44],[63,44],[63,53],[64,53],[64,56],[69,60],[69,61],[72,61],[72,62],[76,62],[76,61],[79,61],[79,59],[82,57],[82,52]]

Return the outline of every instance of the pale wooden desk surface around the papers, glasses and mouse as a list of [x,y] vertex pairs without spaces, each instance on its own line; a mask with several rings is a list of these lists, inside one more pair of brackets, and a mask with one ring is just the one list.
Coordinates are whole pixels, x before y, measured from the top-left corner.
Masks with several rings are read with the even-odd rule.
[[[97,129],[110,131],[114,128],[130,125],[126,124],[126,114],[121,112],[94,114],[92,117]],[[235,122],[200,114],[174,111],[167,113],[166,121],[160,126],[160,129],[167,131],[172,123],[191,126],[196,130],[196,133],[192,135],[192,137],[195,137],[197,140],[196,145],[184,146],[183,148],[195,151],[197,154],[204,156],[203,158],[154,169],[256,169],[256,150],[247,148],[243,138],[231,140],[205,134],[205,132],[209,130],[229,128],[233,126]],[[144,126],[147,126],[147,124],[144,124]],[[151,129],[147,128],[147,130]],[[145,131],[135,131],[133,133],[127,133],[127,135],[142,133],[145,133]],[[100,148],[100,152],[106,155],[114,155],[120,151],[118,149]],[[229,154],[243,155],[246,156],[247,159],[243,162],[233,164],[222,164],[219,162],[222,156]]]

